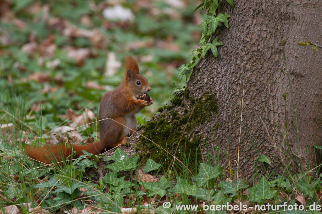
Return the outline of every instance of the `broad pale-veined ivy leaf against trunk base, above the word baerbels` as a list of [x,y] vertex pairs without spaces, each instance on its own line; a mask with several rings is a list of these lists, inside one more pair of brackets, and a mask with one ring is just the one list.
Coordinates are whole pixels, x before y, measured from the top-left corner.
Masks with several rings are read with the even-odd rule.
[[211,178],[215,178],[219,175],[219,170],[217,167],[212,167],[205,163],[200,163],[199,174],[192,177],[194,181],[198,183],[198,186],[202,186],[207,183]]

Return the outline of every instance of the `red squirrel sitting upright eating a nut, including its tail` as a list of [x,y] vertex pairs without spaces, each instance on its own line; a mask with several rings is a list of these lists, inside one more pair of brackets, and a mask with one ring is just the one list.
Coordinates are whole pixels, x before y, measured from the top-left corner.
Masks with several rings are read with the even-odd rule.
[[105,149],[125,144],[127,136],[133,133],[131,130],[136,128],[135,114],[144,107],[150,106],[153,98],[149,101],[139,99],[140,94],[147,93],[151,87],[147,79],[139,74],[137,61],[127,56],[124,59],[124,67],[126,73],[122,83],[115,90],[107,92],[101,99],[99,106],[100,141],[88,145],[71,145],[72,148],[67,148],[62,144],[42,148],[27,146],[25,153],[35,160],[49,164],[66,160],[72,151],[76,152],[75,157],[78,158],[84,154],[82,150],[98,155]]

